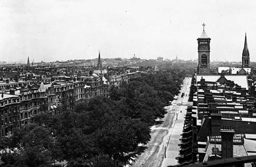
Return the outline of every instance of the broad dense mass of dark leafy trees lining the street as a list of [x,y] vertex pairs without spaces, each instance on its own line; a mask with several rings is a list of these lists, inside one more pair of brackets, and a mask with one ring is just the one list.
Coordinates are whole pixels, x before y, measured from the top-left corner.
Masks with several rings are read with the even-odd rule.
[[184,78],[182,71],[160,71],[111,87],[110,98],[97,97],[72,111],[44,113],[0,141],[1,166],[120,166],[150,139],[150,127],[164,117]]

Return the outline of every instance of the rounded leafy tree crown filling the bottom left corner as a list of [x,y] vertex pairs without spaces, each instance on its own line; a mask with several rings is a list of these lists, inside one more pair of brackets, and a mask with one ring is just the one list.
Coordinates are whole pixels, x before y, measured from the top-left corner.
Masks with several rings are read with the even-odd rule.
[[53,141],[49,129],[28,124],[15,129],[1,153],[3,166],[49,166]]

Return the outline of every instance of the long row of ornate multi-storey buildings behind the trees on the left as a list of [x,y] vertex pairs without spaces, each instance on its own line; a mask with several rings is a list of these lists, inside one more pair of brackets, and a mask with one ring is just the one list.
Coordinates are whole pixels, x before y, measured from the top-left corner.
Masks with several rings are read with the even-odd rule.
[[1,78],[0,137],[12,134],[14,127],[26,125],[39,113],[56,115],[91,98],[109,97],[112,85],[119,86],[122,81],[140,76],[140,71],[113,76],[90,71],[89,75],[79,77],[27,73],[20,78]]

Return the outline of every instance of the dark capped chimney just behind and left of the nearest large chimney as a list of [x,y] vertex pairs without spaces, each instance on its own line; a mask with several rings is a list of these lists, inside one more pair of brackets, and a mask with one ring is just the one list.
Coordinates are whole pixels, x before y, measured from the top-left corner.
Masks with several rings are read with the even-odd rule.
[[221,113],[216,111],[216,113],[211,113],[211,135],[220,135],[221,129]]

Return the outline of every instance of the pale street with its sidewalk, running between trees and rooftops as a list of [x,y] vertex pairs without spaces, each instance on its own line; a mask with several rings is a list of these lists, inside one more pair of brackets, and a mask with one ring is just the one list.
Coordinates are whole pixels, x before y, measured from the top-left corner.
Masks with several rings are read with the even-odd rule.
[[[180,138],[180,127],[184,123],[184,114],[186,113],[186,108],[189,103],[188,94],[189,94],[189,86],[191,83],[191,78],[185,78],[183,81],[183,85],[181,88],[181,93],[177,97],[177,100],[173,101],[173,105],[167,106],[167,114],[164,118],[160,119],[162,124],[153,126],[151,132],[151,140],[148,142],[146,150],[139,155],[135,162],[130,166],[163,166],[165,164],[169,164],[166,160],[170,160],[172,164],[177,164],[177,160],[175,157],[179,154],[178,142]],[[184,98],[181,98],[181,94],[184,92]],[[186,96],[187,94],[187,96]],[[182,113],[180,111],[182,110]],[[178,114],[178,121],[176,123],[176,118]],[[176,126],[177,125],[177,126]],[[179,130],[178,130],[179,129]],[[175,134],[173,134],[175,132]],[[179,133],[179,134],[178,134]],[[173,137],[173,135],[175,137]],[[179,137],[177,136],[179,135]],[[170,144],[172,143],[172,144]],[[169,144],[169,147],[168,147]],[[177,147],[175,146],[177,145]],[[166,158],[164,158],[164,152],[166,148]],[[173,149],[174,148],[174,149]],[[173,151],[172,151],[173,150]],[[175,163],[176,162],[176,163]],[[163,163],[163,165],[162,165]]]

